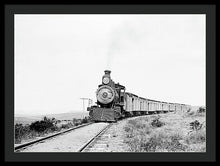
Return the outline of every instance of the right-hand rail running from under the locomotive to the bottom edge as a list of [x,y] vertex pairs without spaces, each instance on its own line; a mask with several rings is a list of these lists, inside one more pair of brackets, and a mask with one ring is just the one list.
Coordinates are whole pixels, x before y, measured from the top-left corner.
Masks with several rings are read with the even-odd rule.
[[99,140],[99,138],[112,126],[113,123],[109,123],[101,131],[98,132],[94,137],[92,137],[88,142],[86,142],[77,152],[87,152],[93,147],[93,145]]

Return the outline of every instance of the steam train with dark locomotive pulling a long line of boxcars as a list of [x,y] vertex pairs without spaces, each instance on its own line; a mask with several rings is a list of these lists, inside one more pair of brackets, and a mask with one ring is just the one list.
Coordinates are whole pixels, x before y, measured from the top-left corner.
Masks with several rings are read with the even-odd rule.
[[126,92],[125,86],[115,83],[110,74],[110,70],[104,71],[102,83],[96,91],[97,102],[87,107],[94,122],[117,122],[125,117],[191,109],[187,104],[157,101]]

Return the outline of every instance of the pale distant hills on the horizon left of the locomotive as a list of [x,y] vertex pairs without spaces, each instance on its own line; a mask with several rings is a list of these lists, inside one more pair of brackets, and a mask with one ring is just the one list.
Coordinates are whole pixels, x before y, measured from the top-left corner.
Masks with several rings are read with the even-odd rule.
[[57,120],[72,120],[73,118],[76,119],[83,119],[86,116],[89,116],[88,112],[67,112],[67,113],[60,113],[60,114],[46,114],[46,115],[15,115],[15,124],[22,123],[22,124],[30,124],[32,122],[38,121],[43,119],[46,116],[48,118],[55,118]]

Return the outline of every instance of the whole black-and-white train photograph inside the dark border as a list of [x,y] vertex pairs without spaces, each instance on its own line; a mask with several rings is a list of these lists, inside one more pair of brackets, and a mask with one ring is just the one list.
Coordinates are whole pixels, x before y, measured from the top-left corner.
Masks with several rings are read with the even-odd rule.
[[15,14],[14,152],[206,150],[206,14]]

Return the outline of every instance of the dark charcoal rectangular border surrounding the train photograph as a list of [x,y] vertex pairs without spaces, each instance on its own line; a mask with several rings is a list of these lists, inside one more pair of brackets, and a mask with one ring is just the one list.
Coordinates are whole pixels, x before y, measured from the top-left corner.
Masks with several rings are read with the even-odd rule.
[[[52,161],[215,161],[216,160],[216,6],[215,5],[5,5],[5,109],[6,162]],[[14,14],[205,14],[206,108],[205,153],[14,153]]]

